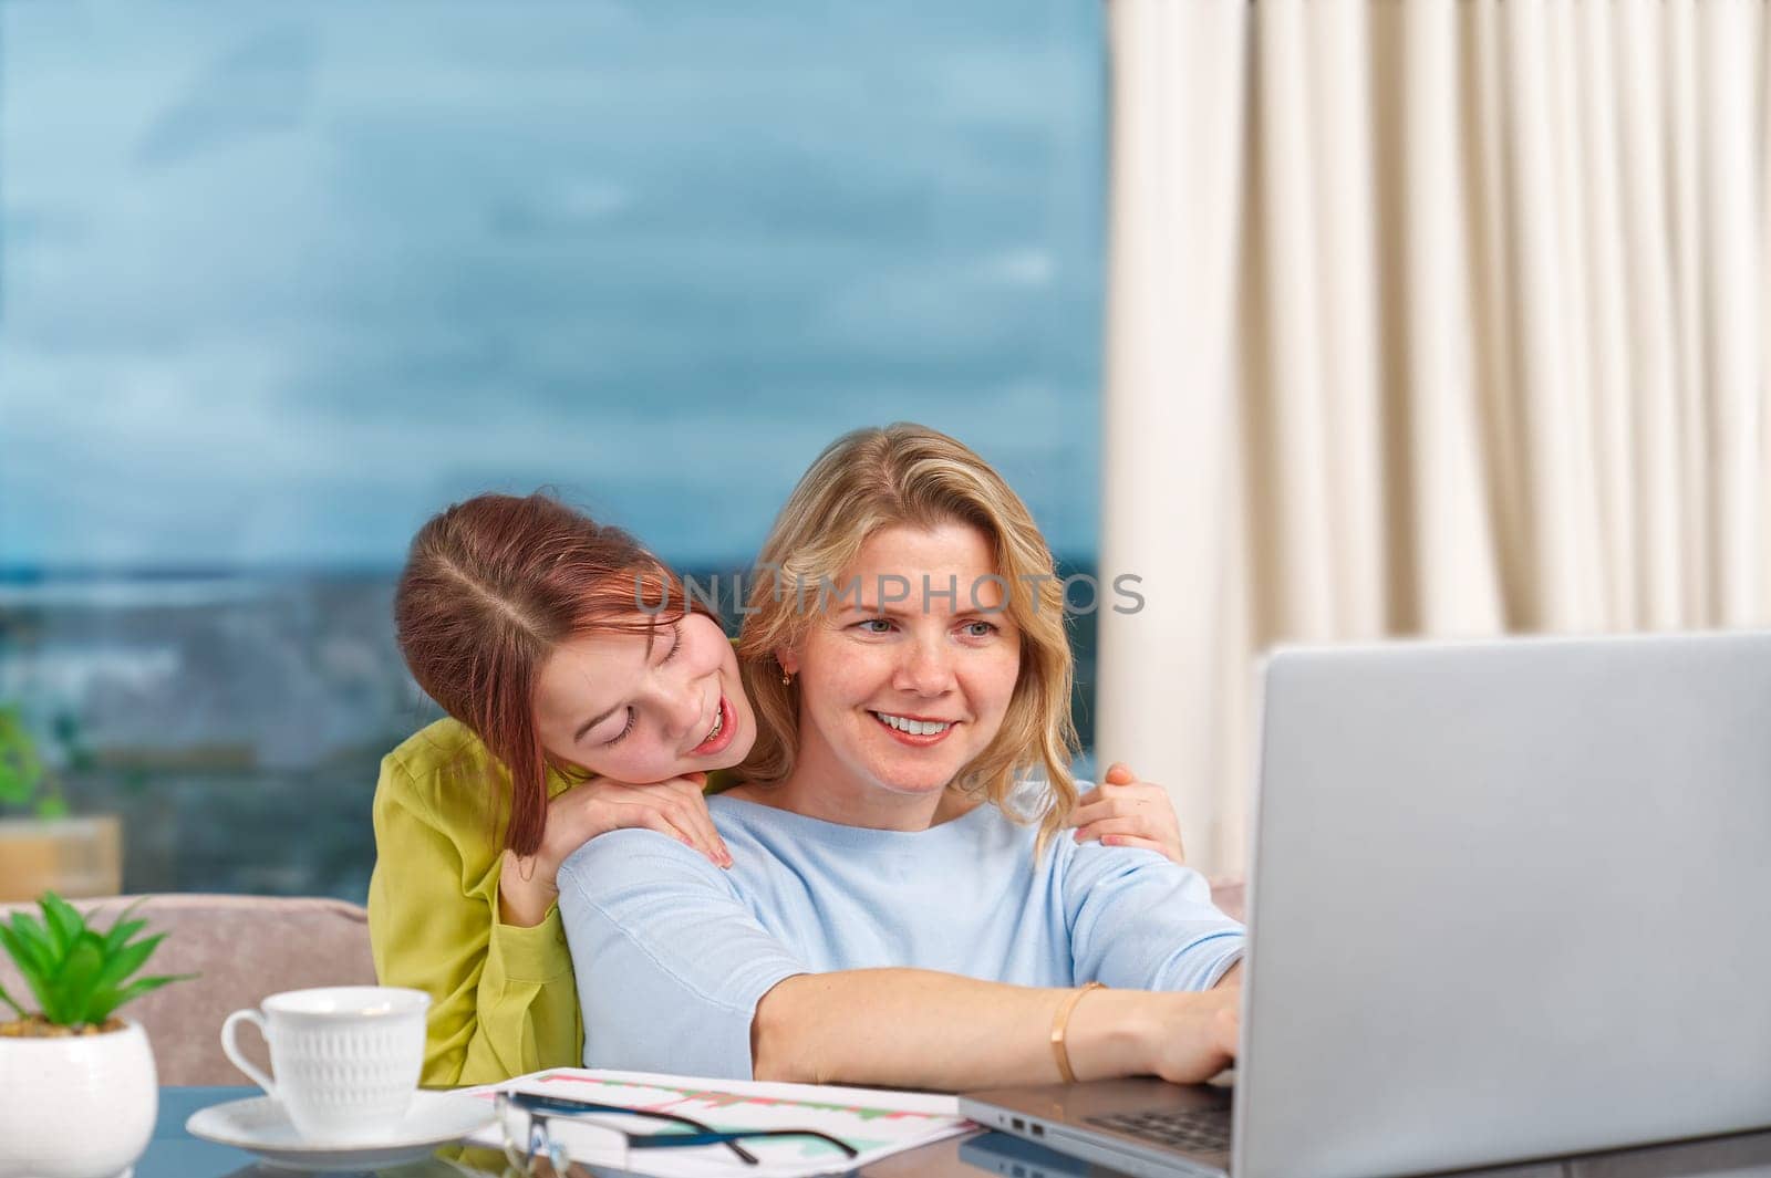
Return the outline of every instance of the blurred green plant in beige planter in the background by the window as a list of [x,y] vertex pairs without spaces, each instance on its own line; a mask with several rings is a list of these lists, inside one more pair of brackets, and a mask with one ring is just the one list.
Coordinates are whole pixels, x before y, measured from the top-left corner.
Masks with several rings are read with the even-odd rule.
[[[57,716],[53,736],[66,764],[90,759],[74,716]],[[113,814],[67,814],[60,776],[37,752],[23,711],[0,704],[0,900],[51,890],[73,897],[120,891],[122,828]]]

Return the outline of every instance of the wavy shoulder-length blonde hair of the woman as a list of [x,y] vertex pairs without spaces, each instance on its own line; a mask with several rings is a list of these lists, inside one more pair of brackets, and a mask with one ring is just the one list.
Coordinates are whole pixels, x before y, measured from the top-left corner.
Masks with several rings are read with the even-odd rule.
[[[756,708],[756,745],[740,766],[754,785],[793,771],[799,752],[799,688],[783,683],[776,651],[795,649],[838,580],[880,529],[969,524],[988,539],[1006,582],[1006,614],[1020,630],[1020,676],[995,739],[965,764],[949,789],[983,792],[1015,819],[1040,819],[1040,845],[1077,803],[1070,759],[1073,658],[1064,633],[1064,591],[1052,550],[990,463],[926,426],[896,423],[831,442],[769,531],[756,557],[749,610],[739,635],[744,690]],[[962,591],[963,593],[963,591]],[[808,603],[816,600],[816,608]],[[1043,812],[1017,814],[1008,801],[1024,775],[1050,784]]]

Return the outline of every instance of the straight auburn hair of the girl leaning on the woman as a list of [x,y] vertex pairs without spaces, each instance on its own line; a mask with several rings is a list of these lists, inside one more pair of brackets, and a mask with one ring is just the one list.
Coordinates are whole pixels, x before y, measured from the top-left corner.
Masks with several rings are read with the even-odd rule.
[[553,495],[476,495],[413,538],[393,596],[400,653],[418,686],[510,773],[505,847],[535,854],[547,826],[549,755],[535,729],[540,669],[561,642],[671,624],[677,575],[629,532]]

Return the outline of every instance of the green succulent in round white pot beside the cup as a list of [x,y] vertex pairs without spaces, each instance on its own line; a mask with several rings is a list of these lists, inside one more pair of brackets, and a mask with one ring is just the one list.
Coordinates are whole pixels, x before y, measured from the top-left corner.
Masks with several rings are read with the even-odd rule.
[[53,891],[37,907],[0,922],[37,1005],[0,987],[0,1178],[112,1178],[147,1148],[159,1104],[147,1033],[115,1012],[193,975],[136,976],[165,934],[138,937],[133,906],[103,930]]

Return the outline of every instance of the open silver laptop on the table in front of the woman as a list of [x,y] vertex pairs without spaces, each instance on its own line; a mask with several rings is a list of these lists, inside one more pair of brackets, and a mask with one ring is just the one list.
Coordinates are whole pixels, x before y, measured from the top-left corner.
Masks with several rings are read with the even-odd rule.
[[965,1116],[1149,1178],[1771,1125],[1771,633],[1293,647],[1261,679],[1234,1086]]

